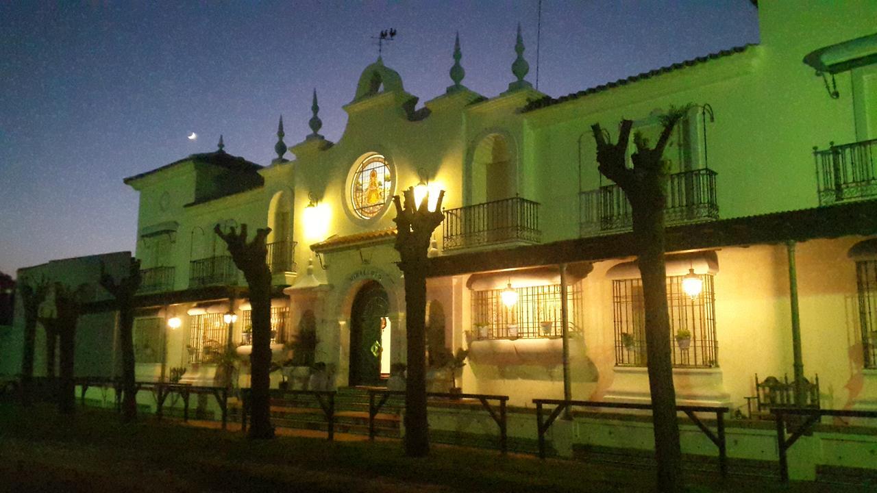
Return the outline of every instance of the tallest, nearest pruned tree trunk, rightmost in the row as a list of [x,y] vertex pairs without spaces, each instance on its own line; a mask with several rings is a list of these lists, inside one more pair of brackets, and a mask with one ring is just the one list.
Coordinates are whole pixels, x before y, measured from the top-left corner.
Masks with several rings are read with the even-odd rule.
[[627,146],[631,120],[621,123],[618,141],[612,144],[599,124],[592,125],[597,144],[597,162],[602,175],[624,190],[631,203],[633,235],[643,281],[645,303],[645,347],[649,389],[652,393],[652,422],[655,456],[658,461],[658,490],[682,490],[679,422],[667,315],[667,271],[664,265],[664,206],[667,203],[668,170],[662,157],[671,132],[688,108],[671,109],[662,118],[663,130],[656,146],[649,147],[641,135],[634,136],[637,151],[627,168]]

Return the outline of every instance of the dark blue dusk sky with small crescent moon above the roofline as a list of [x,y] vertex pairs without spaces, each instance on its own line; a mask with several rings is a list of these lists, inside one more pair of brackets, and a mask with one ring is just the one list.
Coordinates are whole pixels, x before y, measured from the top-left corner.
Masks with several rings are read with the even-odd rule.
[[[452,82],[496,96],[514,80],[521,22],[536,76],[536,0],[522,2],[3,2],[0,4],[0,271],[132,250],[137,194],[125,176],[216,148],[267,164],[286,143],[337,140],[371,39],[421,103]],[[746,0],[544,0],[539,89],[550,96],[758,42]],[[198,139],[186,139],[197,132]],[[287,154],[289,158],[289,154]]]

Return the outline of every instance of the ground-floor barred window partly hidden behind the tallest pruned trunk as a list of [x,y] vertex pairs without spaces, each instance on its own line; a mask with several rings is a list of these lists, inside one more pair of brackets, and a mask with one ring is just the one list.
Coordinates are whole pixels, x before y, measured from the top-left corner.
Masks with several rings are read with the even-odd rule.
[[[716,297],[713,276],[701,275],[703,289],[694,300],[682,290],[682,275],[667,276],[667,311],[673,366],[718,366]],[[645,301],[640,279],[612,282],[617,366],[643,367],[645,355]],[[688,336],[688,337],[686,337]]]

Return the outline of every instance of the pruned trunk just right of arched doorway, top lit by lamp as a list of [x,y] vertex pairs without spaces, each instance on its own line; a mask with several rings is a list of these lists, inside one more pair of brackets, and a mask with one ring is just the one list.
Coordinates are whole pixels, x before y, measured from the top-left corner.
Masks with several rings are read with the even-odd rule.
[[430,452],[429,427],[426,417],[426,252],[432,232],[445,215],[441,203],[445,191],[439,193],[435,211],[429,211],[429,194],[415,204],[414,189],[405,190],[405,207],[399,196],[396,204],[396,250],[405,275],[405,333],[408,341],[408,379],[405,382],[405,454],[423,457]]

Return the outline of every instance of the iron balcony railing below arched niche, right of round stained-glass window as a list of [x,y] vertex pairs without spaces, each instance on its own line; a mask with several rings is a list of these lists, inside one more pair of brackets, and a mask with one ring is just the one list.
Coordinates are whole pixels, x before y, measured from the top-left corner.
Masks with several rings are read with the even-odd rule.
[[539,204],[519,196],[445,211],[445,250],[500,243],[538,243]]

